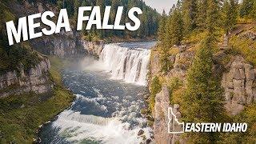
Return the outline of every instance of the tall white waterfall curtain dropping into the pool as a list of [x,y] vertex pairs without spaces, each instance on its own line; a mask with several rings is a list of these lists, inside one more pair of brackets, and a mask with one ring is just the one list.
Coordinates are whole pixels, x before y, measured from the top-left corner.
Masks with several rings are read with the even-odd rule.
[[150,50],[107,44],[99,56],[112,78],[146,86]]

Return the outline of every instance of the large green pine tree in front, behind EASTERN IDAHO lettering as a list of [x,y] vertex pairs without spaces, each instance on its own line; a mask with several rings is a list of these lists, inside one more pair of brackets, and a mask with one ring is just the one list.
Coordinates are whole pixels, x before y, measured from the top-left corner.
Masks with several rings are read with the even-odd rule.
[[[187,122],[222,122],[224,106],[222,88],[213,74],[214,35],[209,34],[188,70],[187,89],[184,94],[184,114]],[[218,133],[191,133],[190,141],[215,143]]]

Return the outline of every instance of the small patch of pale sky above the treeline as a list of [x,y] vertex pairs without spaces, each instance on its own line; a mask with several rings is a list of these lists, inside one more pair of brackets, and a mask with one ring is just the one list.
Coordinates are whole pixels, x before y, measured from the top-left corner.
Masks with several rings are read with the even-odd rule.
[[159,13],[162,13],[162,10],[166,10],[166,13],[169,13],[170,8],[176,4],[177,0],[144,0],[146,5],[155,8]]

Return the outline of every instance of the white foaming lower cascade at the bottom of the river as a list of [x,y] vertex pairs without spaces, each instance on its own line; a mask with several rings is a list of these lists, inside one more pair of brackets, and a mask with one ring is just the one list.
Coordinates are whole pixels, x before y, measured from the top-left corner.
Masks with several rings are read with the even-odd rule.
[[[73,110],[65,110],[58,115],[53,122],[55,128],[59,128],[60,134],[68,133],[67,140],[79,142],[90,139],[102,143],[139,143],[142,138],[138,137],[137,127],[130,130],[128,122],[121,122],[118,118],[102,118],[94,115],[80,114]],[[150,138],[150,128],[142,129],[146,138]]]

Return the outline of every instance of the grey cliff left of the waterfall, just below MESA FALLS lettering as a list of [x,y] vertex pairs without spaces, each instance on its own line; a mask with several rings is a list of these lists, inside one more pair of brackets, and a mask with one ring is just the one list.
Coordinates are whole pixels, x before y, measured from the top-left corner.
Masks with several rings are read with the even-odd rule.
[[54,36],[44,37],[31,41],[32,45],[46,55],[59,58],[78,58],[86,55],[98,56],[103,49],[103,42],[88,42],[80,38],[77,31],[70,31]]

